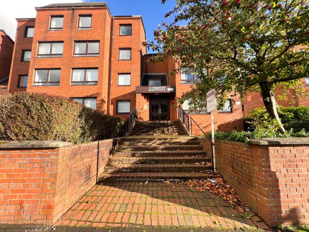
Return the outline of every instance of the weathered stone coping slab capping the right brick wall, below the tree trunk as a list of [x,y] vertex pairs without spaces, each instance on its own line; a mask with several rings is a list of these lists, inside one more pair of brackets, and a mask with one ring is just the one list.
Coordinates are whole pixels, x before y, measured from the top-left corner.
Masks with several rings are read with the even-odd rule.
[[263,138],[256,140],[249,140],[249,144],[257,145],[309,145],[309,138]]

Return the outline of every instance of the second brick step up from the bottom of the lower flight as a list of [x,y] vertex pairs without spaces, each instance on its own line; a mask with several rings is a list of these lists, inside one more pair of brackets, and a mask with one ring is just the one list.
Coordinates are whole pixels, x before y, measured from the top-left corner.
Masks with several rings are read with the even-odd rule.
[[210,165],[198,164],[108,164],[105,172],[200,172],[211,170]]

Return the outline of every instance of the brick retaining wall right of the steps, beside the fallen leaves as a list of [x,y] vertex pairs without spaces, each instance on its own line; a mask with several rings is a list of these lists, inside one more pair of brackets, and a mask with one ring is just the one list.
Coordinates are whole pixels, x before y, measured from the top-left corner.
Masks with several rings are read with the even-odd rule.
[[[198,140],[211,154],[210,142]],[[218,172],[270,226],[309,223],[309,139],[216,140]]]

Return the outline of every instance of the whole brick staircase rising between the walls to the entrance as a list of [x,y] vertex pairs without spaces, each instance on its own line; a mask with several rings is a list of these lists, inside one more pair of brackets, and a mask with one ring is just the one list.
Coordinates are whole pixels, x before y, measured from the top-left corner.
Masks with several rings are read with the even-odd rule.
[[210,178],[210,158],[179,121],[137,122],[121,138],[100,181]]

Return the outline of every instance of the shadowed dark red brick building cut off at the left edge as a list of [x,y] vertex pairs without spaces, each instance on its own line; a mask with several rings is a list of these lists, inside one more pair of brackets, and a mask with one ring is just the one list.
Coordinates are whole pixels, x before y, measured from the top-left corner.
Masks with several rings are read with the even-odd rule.
[[11,69],[14,41],[0,29],[0,88],[7,88]]

